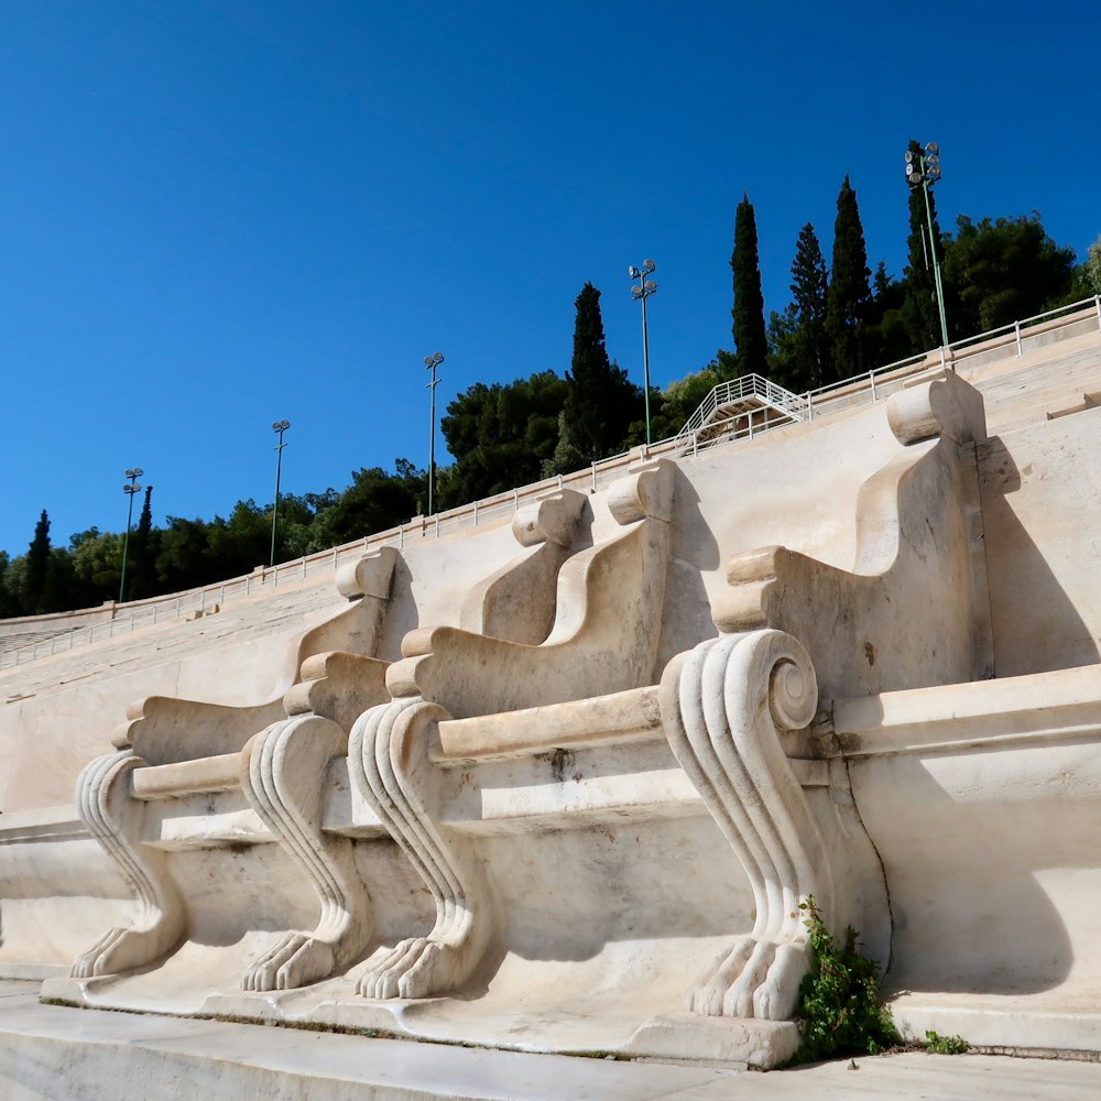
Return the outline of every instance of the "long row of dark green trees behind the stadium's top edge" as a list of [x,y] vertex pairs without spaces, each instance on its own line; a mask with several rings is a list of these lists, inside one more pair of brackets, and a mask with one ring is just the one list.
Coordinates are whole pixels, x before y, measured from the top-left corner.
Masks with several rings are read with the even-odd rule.
[[[912,142],[911,149],[917,149]],[[1101,237],[1082,263],[1059,247],[1037,212],[978,221],[960,215],[942,232],[930,193],[908,198],[907,261],[901,276],[872,272],[857,193],[837,197],[830,262],[815,226],[795,242],[791,302],[765,317],[756,219],[743,195],[730,258],[733,349],[650,395],[654,439],[678,432],[720,382],[761,374],[797,393],[936,348],[941,342],[933,260],[941,264],[949,339],[996,328],[1101,294]],[[931,221],[931,235],[929,222]],[[455,457],[436,471],[440,511],[542,478],[569,473],[646,439],[643,391],[604,344],[600,291],[575,302],[574,352],[563,374],[537,371],[508,383],[476,382],[447,405],[440,432]],[[238,501],[228,517],[167,516],[152,523],[146,488],[130,534],[126,599],[175,592],[249,573],[271,552],[272,505]],[[340,491],[281,494],[276,560],[349,543],[421,514],[427,471],[399,458],[394,469],[351,472]],[[43,510],[28,552],[0,550],[0,617],[86,608],[119,596],[124,535],[97,527],[54,545]]]

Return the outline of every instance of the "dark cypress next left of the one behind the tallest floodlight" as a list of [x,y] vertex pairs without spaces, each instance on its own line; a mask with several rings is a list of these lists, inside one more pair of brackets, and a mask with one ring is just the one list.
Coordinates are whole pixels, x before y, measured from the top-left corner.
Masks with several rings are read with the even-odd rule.
[[857,193],[846,176],[837,197],[833,268],[826,294],[826,336],[830,342],[835,379],[864,370],[861,325],[871,298],[868,284],[871,274]]

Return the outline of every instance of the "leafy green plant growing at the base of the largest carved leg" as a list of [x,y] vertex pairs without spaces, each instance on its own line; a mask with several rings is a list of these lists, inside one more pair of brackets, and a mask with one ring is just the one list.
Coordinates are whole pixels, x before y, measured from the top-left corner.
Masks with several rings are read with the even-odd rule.
[[898,1043],[891,1010],[880,995],[880,966],[857,950],[852,926],[836,942],[814,896],[799,904],[809,931],[811,970],[799,986],[796,1018],[803,1043],[793,1062],[875,1055]]

